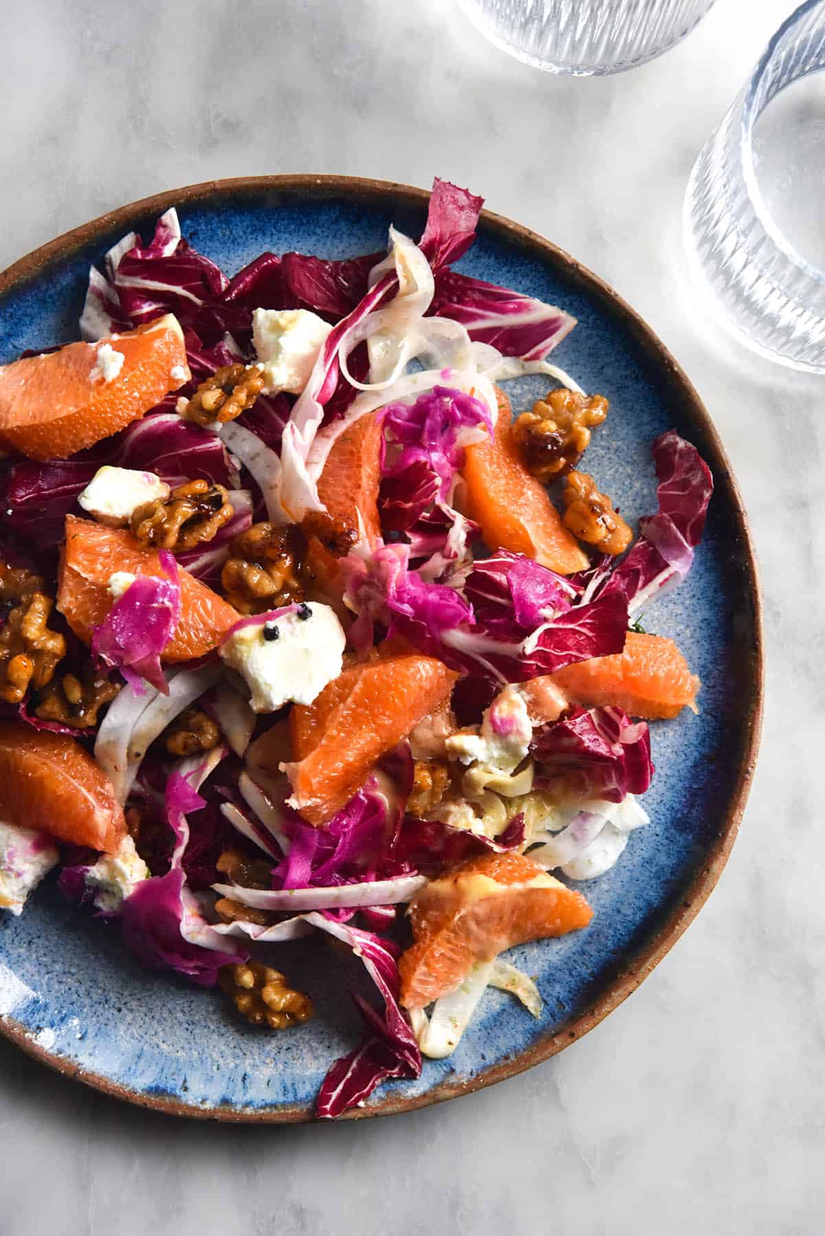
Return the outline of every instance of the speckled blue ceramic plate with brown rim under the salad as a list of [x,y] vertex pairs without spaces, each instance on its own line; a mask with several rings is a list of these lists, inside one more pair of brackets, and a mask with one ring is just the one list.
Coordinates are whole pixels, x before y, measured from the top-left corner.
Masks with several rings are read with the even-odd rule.
[[[482,185],[481,185],[482,188]],[[336,177],[272,177],[198,185],[126,206],[17,262],[0,281],[0,361],[77,337],[90,262],[130,229],[146,232],[177,205],[183,234],[234,273],[262,250],[349,257],[382,247],[387,226],[418,235],[427,194]],[[605,284],[547,241],[495,215],[460,269],[563,305],[579,319],[554,353],[610,399],[588,468],[625,514],[656,509],[652,439],[672,425],[716,480],[704,544],[688,582],[648,625],[674,637],[701,676],[701,713],[653,729],[652,817],[618,864],[584,885],[592,925],[515,950],[538,976],[534,1021],[490,991],[448,1060],[416,1082],[385,1085],[355,1116],[402,1111],[528,1068],[585,1033],[642,981],[703,904],[727,858],[756,756],[761,633],[753,559],[741,502],[716,433],[674,360]],[[532,379],[531,379],[532,381]],[[543,383],[539,383],[539,387]],[[538,393],[511,387],[515,407]],[[4,1032],[32,1056],[147,1106],[228,1120],[312,1117],[330,1062],[360,1035],[348,990],[361,967],[318,941],[287,946],[317,1016],[299,1032],[261,1033],[228,1016],[216,993],[140,969],[116,929],[90,921],[45,886],[20,918],[0,922]],[[281,962],[278,963],[281,964]]]

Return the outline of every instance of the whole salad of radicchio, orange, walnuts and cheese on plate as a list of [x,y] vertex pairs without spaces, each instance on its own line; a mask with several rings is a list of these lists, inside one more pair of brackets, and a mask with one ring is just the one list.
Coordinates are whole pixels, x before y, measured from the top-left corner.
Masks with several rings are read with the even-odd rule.
[[710,472],[660,435],[631,529],[581,468],[607,400],[548,361],[574,319],[454,269],[481,205],[437,179],[417,239],[233,278],[169,210],[92,268],[82,341],[0,367],[0,906],[58,869],[261,1032],[313,1015],[277,946],[333,937],[377,1002],[325,1117],[449,1056],[487,986],[542,1016],[507,949],[588,929],[647,722],[695,711],[639,617]]

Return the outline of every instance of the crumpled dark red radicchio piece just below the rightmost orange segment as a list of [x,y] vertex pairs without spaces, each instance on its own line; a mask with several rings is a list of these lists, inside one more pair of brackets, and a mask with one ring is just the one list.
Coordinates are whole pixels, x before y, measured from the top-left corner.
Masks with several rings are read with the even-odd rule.
[[575,708],[539,726],[531,751],[536,789],[562,801],[622,802],[628,792],[644,794],[654,771],[647,724],[631,722],[621,708]]

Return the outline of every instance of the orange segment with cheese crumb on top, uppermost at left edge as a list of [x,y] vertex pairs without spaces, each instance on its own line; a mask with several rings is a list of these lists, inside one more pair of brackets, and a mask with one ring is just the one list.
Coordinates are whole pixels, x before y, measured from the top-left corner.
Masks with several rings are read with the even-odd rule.
[[[122,356],[109,381],[99,356],[105,345]],[[98,344],[12,361],[0,366],[0,445],[35,460],[64,459],[137,420],[189,378],[173,314]]]

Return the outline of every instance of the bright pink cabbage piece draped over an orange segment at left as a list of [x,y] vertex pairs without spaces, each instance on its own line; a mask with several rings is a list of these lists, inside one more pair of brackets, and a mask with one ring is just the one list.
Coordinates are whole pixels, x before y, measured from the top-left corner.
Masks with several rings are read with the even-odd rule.
[[161,550],[158,557],[166,578],[139,575],[92,637],[93,655],[120,670],[139,695],[143,680],[168,695],[161,654],[181,617],[178,564],[167,550]]

